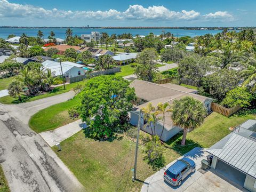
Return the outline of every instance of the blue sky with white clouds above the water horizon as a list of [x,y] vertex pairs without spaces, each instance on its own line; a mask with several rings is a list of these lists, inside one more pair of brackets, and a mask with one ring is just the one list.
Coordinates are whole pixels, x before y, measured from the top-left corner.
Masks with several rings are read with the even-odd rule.
[[0,26],[256,26],[255,0],[0,0]]

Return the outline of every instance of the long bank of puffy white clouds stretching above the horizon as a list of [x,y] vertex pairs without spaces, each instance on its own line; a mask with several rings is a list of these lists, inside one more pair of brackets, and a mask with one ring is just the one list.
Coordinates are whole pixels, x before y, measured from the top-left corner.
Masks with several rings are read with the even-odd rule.
[[65,11],[56,8],[46,10],[42,7],[33,5],[22,5],[18,3],[9,3],[7,0],[0,0],[0,16],[2,18],[39,18],[39,19],[99,19],[99,20],[162,20],[162,21],[189,21],[204,19],[232,19],[233,16],[228,12],[215,12],[201,15],[194,10],[181,12],[171,11],[164,6],[130,5],[129,8],[120,12],[114,9],[108,11]]

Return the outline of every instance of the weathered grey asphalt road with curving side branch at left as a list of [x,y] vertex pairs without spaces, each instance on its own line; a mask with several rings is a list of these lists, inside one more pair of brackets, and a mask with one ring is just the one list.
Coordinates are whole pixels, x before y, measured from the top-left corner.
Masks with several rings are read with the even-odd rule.
[[21,105],[0,104],[0,163],[11,191],[84,191],[74,174],[27,124],[38,110],[73,95],[68,92]]

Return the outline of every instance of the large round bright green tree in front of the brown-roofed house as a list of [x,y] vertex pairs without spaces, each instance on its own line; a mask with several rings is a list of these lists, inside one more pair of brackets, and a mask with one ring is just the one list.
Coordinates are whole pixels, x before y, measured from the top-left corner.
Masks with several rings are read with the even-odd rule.
[[86,135],[101,139],[123,129],[135,93],[122,77],[99,76],[85,83],[81,98],[80,114],[88,125]]

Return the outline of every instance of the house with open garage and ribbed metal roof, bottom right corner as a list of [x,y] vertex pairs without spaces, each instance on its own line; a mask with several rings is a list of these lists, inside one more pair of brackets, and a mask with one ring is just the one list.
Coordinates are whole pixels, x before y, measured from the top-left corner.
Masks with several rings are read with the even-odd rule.
[[239,186],[256,191],[256,120],[249,119],[207,149],[211,168]]

